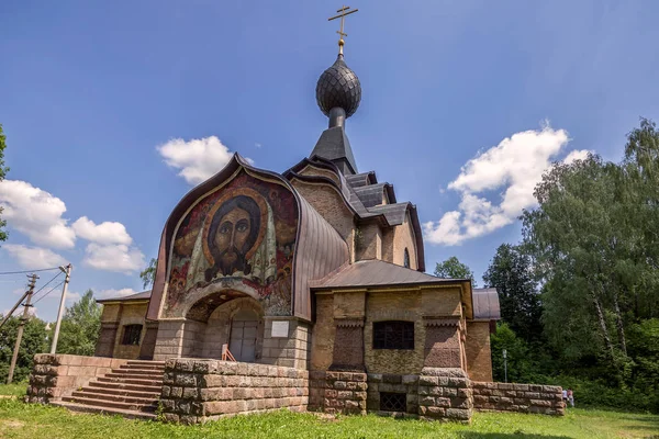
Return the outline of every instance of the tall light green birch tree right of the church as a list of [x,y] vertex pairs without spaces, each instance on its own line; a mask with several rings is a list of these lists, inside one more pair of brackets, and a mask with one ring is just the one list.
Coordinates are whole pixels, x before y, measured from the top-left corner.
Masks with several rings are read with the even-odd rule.
[[544,323],[555,347],[601,354],[623,373],[636,239],[619,181],[619,167],[597,156],[556,164],[536,187],[539,206],[523,214],[523,236],[544,271]]

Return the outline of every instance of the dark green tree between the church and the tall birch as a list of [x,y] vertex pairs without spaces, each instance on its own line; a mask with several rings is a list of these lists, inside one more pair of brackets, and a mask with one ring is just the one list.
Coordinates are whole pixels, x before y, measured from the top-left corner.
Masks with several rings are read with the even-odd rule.
[[495,288],[501,318],[526,341],[537,340],[543,333],[543,308],[533,272],[532,260],[518,246],[502,244],[483,274],[485,286]]

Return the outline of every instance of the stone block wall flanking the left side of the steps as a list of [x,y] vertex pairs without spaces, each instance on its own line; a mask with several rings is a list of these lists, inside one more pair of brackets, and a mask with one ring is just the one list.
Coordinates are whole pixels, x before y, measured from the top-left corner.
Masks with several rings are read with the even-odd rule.
[[30,403],[59,401],[126,362],[114,358],[38,353],[34,356],[25,399]]

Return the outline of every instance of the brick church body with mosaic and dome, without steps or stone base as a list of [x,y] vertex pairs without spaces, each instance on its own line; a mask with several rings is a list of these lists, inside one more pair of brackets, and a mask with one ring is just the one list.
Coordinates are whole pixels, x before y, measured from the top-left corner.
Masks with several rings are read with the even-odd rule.
[[191,190],[163,230],[153,291],[99,301],[97,356],[220,359],[227,345],[242,362],[492,380],[496,292],[424,273],[416,206],[355,161],[346,121],[361,86],[340,52],[316,85],[328,127],[309,157],[277,173],[236,154]]

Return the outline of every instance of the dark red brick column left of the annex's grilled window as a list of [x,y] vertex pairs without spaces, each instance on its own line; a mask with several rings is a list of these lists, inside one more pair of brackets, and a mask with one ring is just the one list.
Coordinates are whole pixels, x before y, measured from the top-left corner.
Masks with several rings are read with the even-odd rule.
[[366,372],[364,364],[364,317],[335,318],[336,335],[330,370]]

